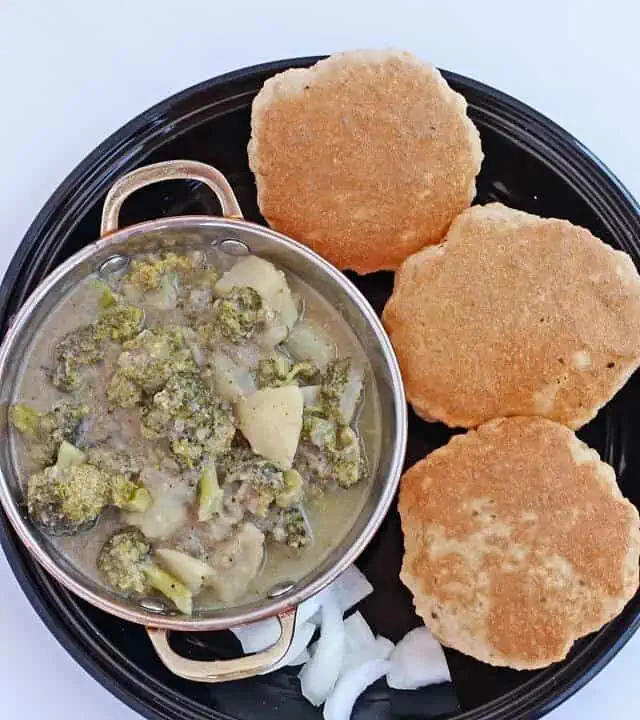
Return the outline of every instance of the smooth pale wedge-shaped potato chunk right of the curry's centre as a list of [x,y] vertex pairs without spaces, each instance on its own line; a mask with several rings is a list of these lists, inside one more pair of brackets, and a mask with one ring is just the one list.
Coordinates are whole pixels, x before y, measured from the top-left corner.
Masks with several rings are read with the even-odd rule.
[[258,390],[236,405],[240,430],[254,452],[289,470],[302,430],[302,407],[296,385]]

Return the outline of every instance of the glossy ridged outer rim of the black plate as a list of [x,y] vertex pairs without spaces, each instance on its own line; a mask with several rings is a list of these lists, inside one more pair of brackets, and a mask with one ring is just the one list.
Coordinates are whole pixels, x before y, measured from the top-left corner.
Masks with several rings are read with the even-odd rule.
[[[76,204],[83,204],[88,202],[87,192],[92,190],[96,193],[100,190],[100,187],[96,187],[96,179],[100,178],[101,171],[102,184],[105,181],[108,181],[107,184],[109,184],[114,177],[124,172],[128,145],[132,145],[135,138],[145,129],[147,137],[153,135],[154,132],[166,134],[167,130],[161,131],[159,126],[162,121],[166,122],[168,120],[167,112],[171,107],[201,92],[211,91],[214,88],[223,88],[238,81],[248,81],[263,74],[272,74],[289,67],[308,66],[319,59],[318,56],[310,56],[262,63],[205,80],[154,105],[104,140],[62,181],[25,233],[0,285],[0,315],[2,315],[0,329],[2,332],[6,331],[6,327],[11,320],[11,314],[9,313],[7,316],[7,310],[11,312],[11,295],[14,292],[18,278],[22,280],[25,276],[28,276],[28,268],[33,265],[34,253],[39,249],[36,248],[38,238],[44,236],[50,241],[61,230],[53,219],[56,213],[59,212],[60,207],[64,206],[67,198],[78,186],[83,183],[85,185],[89,184],[84,195],[75,200]],[[464,86],[470,95],[477,94],[485,103],[489,104],[489,107],[494,106],[499,109],[501,115],[496,114],[496,117],[499,117],[503,126],[511,126],[513,130],[522,127],[526,128],[530,141],[533,144],[539,143],[541,150],[550,151],[550,154],[555,156],[554,160],[565,167],[565,171],[568,173],[565,175],[565,179],[569,184],[574,186],[571,179],[572,173],[579,171],[584,174],[589,180],[590,200],[600,205],[606,198],[608,203],[615,206],[616,221],[626,225],[629,230],[629,242],[633,244],[634,234],[637,236],[640,231],[640,205],[602,161],[559,125],[508,94],[456,73],[447,71],[443,71],[443,73],[448,80]],[[469,100],[469,105],[470,108],[473,108],[472,100]],[[484,112],[490,112],[489,107],[483,105],[482,109]],[[551,152],[551,150],[553,151]],[[125,161],[122,160],[123,156]],[[118,161],[118,157],[121,158],[120,161]],[[137,160],[139,161],[140,158],[137,158]],[[547,161],[549,161],[548,157]],[[607,210],[605,215],[610,212],[611,210]],[[15,312],[15,309],[13,312]],[[122,673],[120,667],[115,666],[112,670],[115,673],[114,677],[103,664],[98,662],[96,652],[103,661],[114,664],[105,648],[101,647],[97,640],[90,638],[86,631],[75,623],[77,626],[76,631],[82,631],[83,642],[86,644],[88,640],[91,640],[91,650],[87,651],[87,648],[78,642],[71,629],[64,624],[74,624],[75,619],[72,612],[61,604],[59,598],[54,597],[53,590],[55,590],[55,587],[47,588],[46,591],[43,590],[41,586],[43,579],[37,577],[42,571],[37,567],[33,567],[34,561],[19,546],[19,540],[8,526],[4,513],[0,515],[0,520],[2,521],[0,524],[0,540],[12,571],[36,612],[62,646],[98,682],[137,712],[150,718],[170,717],[158,714],[162,712],[162,708],[159,707],[158,703],[166,702],[165,698],[160,700],[159,695],[153,691],[151,697],[146,702],[143,702],[141,696],[145,693],[140,692],[140,690],[145,689],[144,685],[138,681],[137,691],[134,693],[118,676],[118,673]],[[52,600],[54,602],[53,609],[50,606]],[[71,598],[71,601],[73,601],[73,598]],[[56,608],[55,605],[58,607]],[[57,615],[55,611],[57,611]],[[60,616],[65,617],[63,619]],[[562,677],[560,683],[558,683],[558,675],[556,674],[552,674],[551,677],[542,682],[533,678],[524,686],[481,708],[475,708],[458,717],[460,720],[479,719],[480,717],[483,720],[489,720],[492,717],[524,717],[525,714],[526,717],[533,718],[548,713],[583,687],[611,661],[640,626],[640,609],[635,612],[633,617],[625,617],[624,622],[622,620],[623,618],[618,618],[617,621],[608,626],[606,632],[598,638],[597,644],[599,647],[595,649],[595,652],[594,648],[589,646],[574,657],[568,665],[564,665],[559,670],[559,675]],[[566,677],[567,675],[569,677]],[[135,682],[131,677],[129,680]],[[524,697],[523,689],[527,690]],[[518,698],[515,698],[514,695],[517,695]],[[514,703],[517,703],[517,708]],[[513,710],[517,710],[517,713],[513,714]],[[479,711],[482,711],[481,715],[478,714]],[[226,716],[214,711],[210,712],[214,717],[226,718]],[[509,714],[498,715],[498,713],[504,712]]]

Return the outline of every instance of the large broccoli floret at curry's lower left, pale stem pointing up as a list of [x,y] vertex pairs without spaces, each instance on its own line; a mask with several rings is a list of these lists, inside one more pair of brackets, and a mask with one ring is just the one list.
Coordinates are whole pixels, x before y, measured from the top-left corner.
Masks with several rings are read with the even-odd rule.
[[143,512],[149,492],[124,475],[111,475],[86,462],[85,454],[67,442],[55,465],[29,478],[29,517],[50,535],[88,530],[108,505]]

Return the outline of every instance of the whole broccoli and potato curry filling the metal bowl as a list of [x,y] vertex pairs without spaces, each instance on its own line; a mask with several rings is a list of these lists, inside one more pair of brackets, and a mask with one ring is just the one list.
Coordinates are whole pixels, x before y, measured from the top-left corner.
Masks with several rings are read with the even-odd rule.
[[212,250],[77,287],[34,340],[10,422],[50,542],[183,613],[302,577],[377,461],[375,387],[338,312],[264,259]]

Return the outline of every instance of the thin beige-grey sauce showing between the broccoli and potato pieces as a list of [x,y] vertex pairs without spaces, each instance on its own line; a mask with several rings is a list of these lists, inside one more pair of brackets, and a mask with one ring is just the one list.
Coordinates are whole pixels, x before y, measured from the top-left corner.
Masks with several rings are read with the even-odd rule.
[[[222,259],[212,255],[208,261],[214,267],[229,264],[228,256]],[[224,267],[223,265],[223,267]],[[374,474],[378,462],[379,438],[377,428],[380,424],[379,406],[372,373],[362,347],[357,342],[347,323],[332,305],[299,278],[287,273],[292,291],[303,302],[305,321],[313,321],[320,326],[335,343],[336,356],[349,356],[365,373],[365,390],[360,401],[357,418],[352,424],[360,435],[366,464],[367,477],[356,485],[343,489],[337,487],[327,491],[319,498],[311,498],[305,503],[305,511],[312,529],[312,542],[301,550],[268,541],[265,560],[240,603],[264,597],[269,589],[284,581],[295,582],[310,572],[337,546],[353,524],[363,506],[369,489],[368,478]],[[144,307],[144,303],[141,303]],[[158,311],[145,308],[145,327],[166,327],[169,324],[186,325],[187,318],[179,310]],[[21,402],[40,411],[49,410],[59,400],[69,400],[70,395],[58,391],[50,382],[47,370],[51,367],[56,343],[69,331],[91,323],[97,318],[96,290],[91,278],[85,280],[59,303],[55,312],[34,337],[27,361],[20,373],[13,403]],[[145,440],[140,433],[139,411],[116,409],[108,411],[105,399],[106,385],[116,368],[116,360],[121,346],[113,344],[107,348],[104,362],[92,368],[90,381],[81,391],[73,393],[73,400],[87,403],[95,417],[89,425],[85,441],[88,444],[109,437],[122,448],[140,455],[153,454],[158,441]],[[29,457],[27,445],[20,435],[12,430],[16,466],[20,481],[26,487],[29,475],[39,469]],[[193,506],[196,490],[186,488],[186,499]],[[193,513],[193,509],[189,510]],[[51,537],[50,541],[65,558],[78,570],[95,582],[102,584],[96,566],[96,558],[105,540],[119,527],[122,527],[122,514],[114,508],[105,510],[97,525],[90,531],[75,536]],[[154,547],[172,547],[171,540],[155,541]],[[210,590],[205,590],[196,600],[196,607],[206,609],[221,603]],[[238,604],[238,603],[234,603]]]

